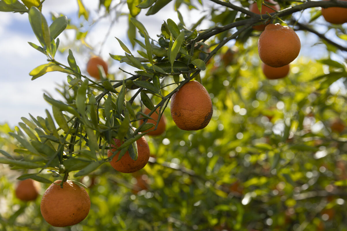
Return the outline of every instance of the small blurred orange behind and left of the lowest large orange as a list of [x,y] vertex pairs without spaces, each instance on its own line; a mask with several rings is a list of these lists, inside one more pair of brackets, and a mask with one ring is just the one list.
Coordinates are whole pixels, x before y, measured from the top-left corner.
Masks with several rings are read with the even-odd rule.
[[33,179],[25,179],[18,183],[15,193],[22,201],[34,201],[39,196],[40,184]]

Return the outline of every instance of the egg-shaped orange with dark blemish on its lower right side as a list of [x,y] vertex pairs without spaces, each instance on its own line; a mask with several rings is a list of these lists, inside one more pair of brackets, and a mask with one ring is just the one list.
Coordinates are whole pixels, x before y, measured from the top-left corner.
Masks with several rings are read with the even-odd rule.
[[197,81],[185,83],[171,97],[171,116],[182,130],[200,130],[212,117],[213,108],[209,92]]

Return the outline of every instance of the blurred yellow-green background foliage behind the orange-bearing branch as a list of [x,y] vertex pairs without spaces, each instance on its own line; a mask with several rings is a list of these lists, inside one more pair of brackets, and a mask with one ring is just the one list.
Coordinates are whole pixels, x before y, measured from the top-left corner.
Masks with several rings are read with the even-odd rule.
[[[229,16],[212,15],[212,21],[234,21],[228,22]],[[268,80],[252,33],[223,47],[201,73],[214,110],[206,128],[180,130],[168,107],[166,132],[146,136],[151,158],[142,170],[122,174],[104,164],[75,179],[88,186],[92,201],[81,223],[48,225],[40,215],[40,197],[27,203],[15,198],[20,174],[1,164],[0,229],[347,230],[346,89],[343,81],[335,82],[340,78],[325,76],[344,64],[301,56],[290,64],[288,77]],[[209,41],[211,48],[226,36]],[[68,88],[58,90],[70,102],[76,92]],[[173,89],[165,88],[163,95]],[[129,90],[127,98],[132,94]],[[7,135],[11,130],[0,126],[0,149],[8,153],[17,148]],[[41,186],[42,196],[49,185]]]

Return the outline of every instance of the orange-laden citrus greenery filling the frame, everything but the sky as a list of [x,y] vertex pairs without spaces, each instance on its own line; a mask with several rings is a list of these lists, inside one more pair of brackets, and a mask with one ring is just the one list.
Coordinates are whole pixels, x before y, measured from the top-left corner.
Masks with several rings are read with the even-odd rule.
[[[45,118],[0,127],[1,229],[346,230],[347,1],[170,1],[100,0],[105,15],[126,6],[128,39],[88,63],[74,56],[89,48],[81,0],[81,25],[43,16],[44,0],[0,1],[28,15],[29,45],[47,57],[32,80],[67,76],[63,100],[44,94]],[[179,21],[150,34],[139,14],[164,10]],[[304,45],[325,57],[296,59]],[[127,65],[110,73],[111,62]],[[15,178],[41,200],[15,198]]]

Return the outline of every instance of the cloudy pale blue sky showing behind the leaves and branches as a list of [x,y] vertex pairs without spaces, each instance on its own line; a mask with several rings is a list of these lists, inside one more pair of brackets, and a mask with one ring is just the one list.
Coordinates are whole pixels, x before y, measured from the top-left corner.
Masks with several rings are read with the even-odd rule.
[[[114,2],[116,1],[117,0],[114,0]],[[96,11],[94,11],[98,7],[98,1],[83,0],[83,2],[90,10],[90,17],[98,17]],[[206,7],[208,8],[208,6],[204,6],[205,9]],[[46,0],[43,4],[42,12],[46,19],[48,19],[49,24],[51,23],[50,11],[67,15],[69,19],[74,21],[78,20],[77,1]],[[124,12],[126,11],[127,8],[125,5]],[[146,11],[147,10],[143,10],[137,18],[143,22],[150,36],[154,38],[157,34],[160,34],[160,26],[163,20],[171,18],[176,22],[179,21],[177,13],[173,10],[172,2],[166,6],[163,11],[158,12],[154,16],[145,16]],[[195,23],[201,17],[199,11],[196,10],[188,14],[187,10],[181,7],[180,11],[184,15],[185,23],[188,25]],[[308,18],[305,17],[307,16],[303,14],[301,20],[308,21]],[[58,72],[51,72],[31,81],[31,77],[28,73],[36,66],[46,63],[47,61],[43,54],[37,52],[27,43],[33,42],[38,44],[28,22],[27,14],[20,15],[18,13],[0,12],[0,21],[0,108],[3,108],[0,110],[0,124],[7,122],[10,126],[15,126],[20,122],[20,117],[29,117],[28,113],[35,117],[45,117],[45,109],[50,109],[50,105],[43,100],[43,92],[44,90],[51,92],[53,96],[59,98],[59,94],[54,89],[57,87],[57,83],[66,82],[66,75]],[[326,24],[322,17],[316,22],[323,25]],[[94,51],[85,50],[82,54],[77,54],[77,51],[72,48],[77,64],[82,71],[85,71],[83,63],[88,61],[89,56],[93,52],[99,53],[100,44],[108,30],[109,24],[110,19],[105,18],[99,21],[97,26],[91,27],[86,41],[92,47],[95,47]],[[207,28],[207,26],[206,22],[202,25],[202,28]],[[101,56],[112,64],[110,65],[111,73],[117,72],[120,65],[115,61],[113,62],[108,53],[124,54],[115,36],[126,42],[127,27],[127,17],[119,17],[101,51]],[[324,26],[321,26],[320,29],[324,31]],[[303,32],[299,32],[298,35],[301,37],[302,43],[301,55],[310,56],[312,59],[318,59],[319,57],[327,55],[324,45],[315,45],[314,49],[312,48],[312,45],[318,41],[315,35],[309,33],[306,34],[305,37]],[[74,32],[72,30],[59,36],[61,44],[66,44],[68,42],[66,38],[71,39],[73,37]],[[128,43],[126,44],[130,48],[130,45]],[[345,42],[345,45],[347,46],[347,42]],[[347,56],[346,53],[345,56]],[[62,63],[67,63],[66,57],[66,53],[58,53],[56,55],[56,59]],[[334,59],[341,61],[342,56],[336,55]]]

